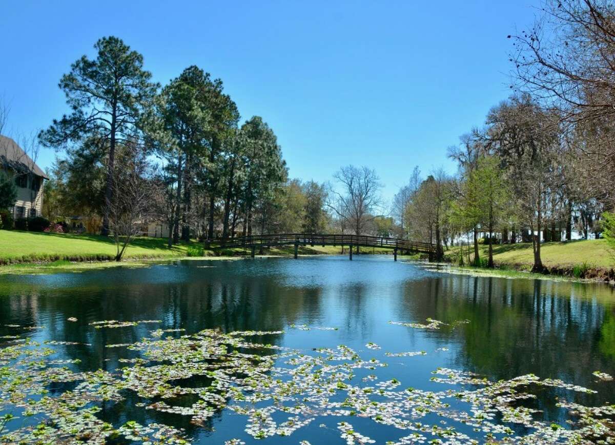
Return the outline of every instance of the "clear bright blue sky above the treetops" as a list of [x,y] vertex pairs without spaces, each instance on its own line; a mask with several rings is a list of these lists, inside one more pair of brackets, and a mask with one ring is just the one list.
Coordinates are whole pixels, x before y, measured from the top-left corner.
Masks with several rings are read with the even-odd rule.
[[[145,57],[161,83],[189,65],[223,79],[242,119],[274,129],[291,177],[330,180],[376,169],[391,199],[418,165],[509,94],[512,42],[538,0],[3,2],[0,97],[10,132],[30,134],[68,111],[57,83],[101,36]],[[39,164],[55,153],[43,150]]]

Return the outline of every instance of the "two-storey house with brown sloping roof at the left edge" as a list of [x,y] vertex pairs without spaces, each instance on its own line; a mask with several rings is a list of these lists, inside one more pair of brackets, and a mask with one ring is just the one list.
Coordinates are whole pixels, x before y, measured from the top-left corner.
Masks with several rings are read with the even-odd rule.
[[43,182],[49,177],[14,140],[2,135],[0,135],[0,170],[14,178],[17,186],[17,202],[11,209],[13,217],[40,216]]

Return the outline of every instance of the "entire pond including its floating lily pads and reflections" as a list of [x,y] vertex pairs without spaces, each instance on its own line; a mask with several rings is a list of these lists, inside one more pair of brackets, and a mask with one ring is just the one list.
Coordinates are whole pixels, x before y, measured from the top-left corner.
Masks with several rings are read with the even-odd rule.
[[378,255],[2,276],[0,436],[610,441],[614,302]]

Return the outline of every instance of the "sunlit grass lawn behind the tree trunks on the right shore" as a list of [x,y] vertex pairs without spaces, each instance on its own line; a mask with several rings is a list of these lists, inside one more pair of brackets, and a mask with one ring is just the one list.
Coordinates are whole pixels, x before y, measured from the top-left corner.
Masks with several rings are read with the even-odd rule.
[[[481,257],[487,257],[488,248],[489,246],[480,246]],[[472,246],[470,246],[471,249]],[[447,254],[452,259],[456,259],[458,252],[459,247],[453,247]],[[541,258],[542,263],[548,267],[573,267],[582,263],[587,263],[589,267],[615,267],[614,252],[609,249],[605,239],[543,243],[541,245]],[[523,265],[531,268],[534,263],[532,245],[530,243],[519,243],[493,246],[493,260],[499,265]]]

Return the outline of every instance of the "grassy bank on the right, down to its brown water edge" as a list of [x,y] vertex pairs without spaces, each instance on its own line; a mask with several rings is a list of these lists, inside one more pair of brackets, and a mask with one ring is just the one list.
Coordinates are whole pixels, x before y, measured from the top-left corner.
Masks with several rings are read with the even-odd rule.
[[[488,257],[489,246],[481,245],[480,256]],[[467,251],[464,247],[464,261]],[[470,246],[470,251],[472,247]],[[446,257],[457,263],[459,247],[446,252]],[[541,244],[542,264],[552,275],[573,276],[574,278],[612,279],[615,268],[614,252],[604,239],[568,241],[566,243]],[[534,253],[530,243],[502,244],[493,246],[493,261],[501,271],[529,271],[534,264]]]

